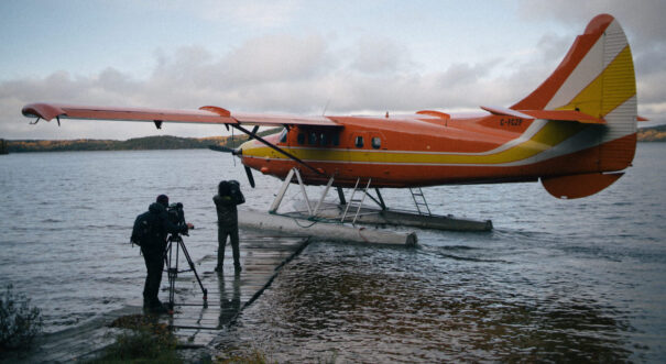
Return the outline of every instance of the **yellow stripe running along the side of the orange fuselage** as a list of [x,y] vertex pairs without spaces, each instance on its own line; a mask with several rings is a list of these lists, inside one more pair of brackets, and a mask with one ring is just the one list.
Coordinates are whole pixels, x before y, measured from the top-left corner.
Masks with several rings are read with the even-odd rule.
[[[310,162],[350,162],[381,164],[419,165],[493,165],[507,164],[533,157],[575,135],[585,124],[570,121],[549,121],[529,140],[494,154],[457,154],[426,151],[379,151],[330,147],[288,147],[281,148],[294,156]],[[266,146],[243,147],[243,156],[288,159],[286,156]]]

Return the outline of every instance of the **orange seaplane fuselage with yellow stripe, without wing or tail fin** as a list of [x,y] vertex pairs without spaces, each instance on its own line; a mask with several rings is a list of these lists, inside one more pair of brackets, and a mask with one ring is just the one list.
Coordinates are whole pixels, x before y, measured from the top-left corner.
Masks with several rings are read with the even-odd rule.
[[566,142],[592,137],[605,126],[511,113],[328,117],[340,128],[295,126],[265,137],[319,173],[256,140],[241,145],[240,156],[244,165],[281,179],[296,167],[307,185],[324,185],[334,176],[334,186],[353,187],[363,176],[378,188],[535,181],[622,170],[633,158],[633,153],[603,161],[599,155],[607,148],[633,150],[635,134],[580,148]]

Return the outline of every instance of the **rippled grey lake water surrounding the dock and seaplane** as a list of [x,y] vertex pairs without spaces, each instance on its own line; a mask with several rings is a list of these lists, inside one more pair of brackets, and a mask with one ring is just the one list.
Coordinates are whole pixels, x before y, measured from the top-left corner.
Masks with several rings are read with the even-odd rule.
[[[664,155],[638,144],[624,177],[580,200],[541,184],[426,188],[435,213],[495,230],[411,229],[412,250],[312,243],[216,345],[279,362],[666,362]],[[254,175],[247,206],[266,210],[281,181]],[[196,261],[217,247],[211,197],[232,178],[247,185],[238,162],[200,150],[0,156],[1,284],[47,332],[138,304],[134,217],[159,194],[182,201]],[[405,190],[383,195],[411,208]]]

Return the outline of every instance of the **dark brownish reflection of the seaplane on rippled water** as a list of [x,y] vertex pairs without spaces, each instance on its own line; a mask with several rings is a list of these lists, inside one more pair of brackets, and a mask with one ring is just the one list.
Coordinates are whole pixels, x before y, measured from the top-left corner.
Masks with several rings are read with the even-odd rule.
[[279,362],[599,362],[631,355],[629,320],[593,294],[571,297],[546,287],[533,297],[520,283],[496,287],[501,266],[432,262],[421,252],[313,244],[218,348],[242,352],[251,343]]

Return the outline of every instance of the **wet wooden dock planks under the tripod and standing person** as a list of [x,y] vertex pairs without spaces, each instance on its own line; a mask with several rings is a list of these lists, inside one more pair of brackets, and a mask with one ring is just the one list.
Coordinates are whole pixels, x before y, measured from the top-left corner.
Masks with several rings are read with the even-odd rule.
[[[217,255],[206,255],[197,264],[203,285],[208,289],[207,305],[192,273],[178,276],[173,316],[163,316],[162,322],[174,329],[174,334],[185,348],[204,348],[218,331],[231,324],[238,315],[251,305],[271,285],[280,268],[296,256],[308,239],[252,234],[241,238],[243,271],[237,274],[227,246],[227,260],[222,274],[214,272]],[[229,245],[229,244],[228,244]],[[186,289],[179,289],[179,288]]]

